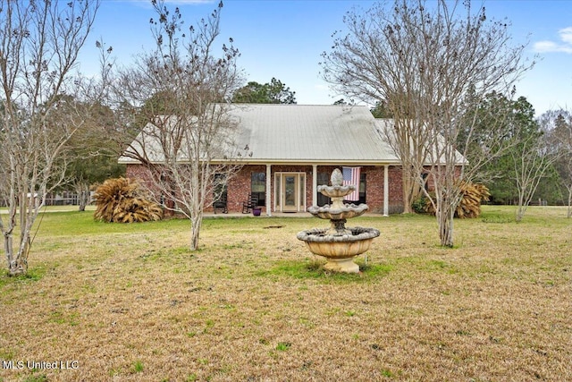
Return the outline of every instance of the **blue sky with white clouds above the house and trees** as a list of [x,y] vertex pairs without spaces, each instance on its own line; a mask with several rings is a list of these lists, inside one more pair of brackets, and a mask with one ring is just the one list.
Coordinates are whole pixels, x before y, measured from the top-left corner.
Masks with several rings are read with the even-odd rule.
[[[218,1],[179,0],[167,6],[179,7],[190,25],[211,13]],[[265,83],[274,77],[296,92],[299,105],[331,105],[342,96],[321,79],[320,55],[331,49],[332,33],[344,30],[345,13],[366,12],[372,4],[369,0],[225,0],[221,44],[233,39],[246,81]],[[572,110],[572,0],[485,0],[484,6],[489,20],[510,22],[513,43],[527,44],[525,57],[535,63],[517,82],[517,96],[526,97],[537,116],[552,109]],[[80,70],[88,73],[97,66],[97,40],[114,48],[119,65],[127,66],[135,55],[151,51],[149,20],[154,16],[148,0],[102,0],[80,55]]]

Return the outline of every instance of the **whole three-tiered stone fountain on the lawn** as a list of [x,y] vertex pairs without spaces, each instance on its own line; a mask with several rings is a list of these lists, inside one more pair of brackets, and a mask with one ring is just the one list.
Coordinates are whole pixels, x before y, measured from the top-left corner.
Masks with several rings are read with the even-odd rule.
[[344,204],[343,197],[356,189],[354,185],[342,185],[343,176],[336,168],[330,178],[332,185],[318,186],[318,191],[332,199],[332,205],[310,207],[307,211],[315,217],[330,219],[330,228],[315,228],[299,232],[299,240],[306,242],[307,248],[316,255],[328,260],[324,269],[334,272],[358,273],[359,266],[353,259],[369,250],[374,238],[379,236],[375,228],[346,228],[351,217],[364,214],[366,204]]

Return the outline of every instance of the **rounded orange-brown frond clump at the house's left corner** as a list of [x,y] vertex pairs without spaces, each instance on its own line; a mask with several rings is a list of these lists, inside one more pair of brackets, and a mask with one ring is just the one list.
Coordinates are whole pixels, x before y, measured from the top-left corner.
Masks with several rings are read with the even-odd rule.
[[146,199],[139,183],[132,179],[108,179],[97,187],[96,220],[109,223],[136,223],[161,220],[161,207]]

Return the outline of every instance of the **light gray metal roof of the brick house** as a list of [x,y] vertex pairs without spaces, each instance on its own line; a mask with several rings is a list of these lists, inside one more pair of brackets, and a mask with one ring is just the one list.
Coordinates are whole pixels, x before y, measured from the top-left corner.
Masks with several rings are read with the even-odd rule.
[[239,123],[237,146],[252,153],[248,163],[400,163],[380,132],[391,120],[376,120],[366,106],[236,104],[230,114]]

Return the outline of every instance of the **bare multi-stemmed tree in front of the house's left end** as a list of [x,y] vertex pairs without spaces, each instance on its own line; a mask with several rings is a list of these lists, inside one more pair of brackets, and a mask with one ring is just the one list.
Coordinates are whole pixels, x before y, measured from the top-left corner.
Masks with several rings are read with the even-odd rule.
[[178,8],[171,13],[163,2],[153,4],[156,51],[140,55],[117,82],[117,101],[147,121],[124,156],[146,166],[157,201],[189,217],[190,248],[197,250],[204,208],[240,168],[232,162],[240,152],[227,103],[242,83],[239,52],[230,39],[222,56],[214,55],[222,3],[188,30]]

